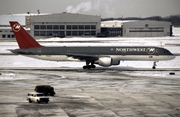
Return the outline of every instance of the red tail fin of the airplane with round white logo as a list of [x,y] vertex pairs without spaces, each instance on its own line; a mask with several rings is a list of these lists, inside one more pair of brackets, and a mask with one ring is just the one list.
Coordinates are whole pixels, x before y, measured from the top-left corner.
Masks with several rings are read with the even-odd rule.
[[19,48],[35,48],[41,45],[27,33],[24,28],[16,21],[9,22],[18,42]]

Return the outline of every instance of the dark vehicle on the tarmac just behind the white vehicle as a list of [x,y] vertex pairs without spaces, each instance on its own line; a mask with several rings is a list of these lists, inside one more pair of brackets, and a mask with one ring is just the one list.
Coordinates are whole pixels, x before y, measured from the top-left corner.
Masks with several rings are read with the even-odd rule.
[[45,96],[47,95],[54,96],[54,94],[56,94],[54,92],[54,88],[51,87],[50,85],[37,85],[34,91],[43,93]]

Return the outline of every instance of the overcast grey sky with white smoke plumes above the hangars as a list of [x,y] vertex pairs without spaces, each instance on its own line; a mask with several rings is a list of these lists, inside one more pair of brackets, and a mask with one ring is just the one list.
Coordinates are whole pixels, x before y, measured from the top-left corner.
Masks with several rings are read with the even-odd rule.
[[180,0],[0,0],[0,15],[79,13],[104,17],[149,17],[180,14]]

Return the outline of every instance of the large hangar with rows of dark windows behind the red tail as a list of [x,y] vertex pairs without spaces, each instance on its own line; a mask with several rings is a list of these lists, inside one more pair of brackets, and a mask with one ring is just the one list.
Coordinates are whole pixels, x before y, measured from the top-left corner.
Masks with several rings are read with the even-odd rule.
[[96,36],[100,32],[100,16],[58,13],[26,16],[26,25],[35,38],[64,36]]

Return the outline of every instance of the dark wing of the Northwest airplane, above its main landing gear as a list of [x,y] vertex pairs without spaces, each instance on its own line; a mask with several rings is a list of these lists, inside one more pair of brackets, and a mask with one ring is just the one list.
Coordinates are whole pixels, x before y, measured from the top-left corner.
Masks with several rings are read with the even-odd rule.
[[69,54],[66,54],[66,56],[73,57],[74,59],[79,59],[81,61],[96,61],[99,59],[97,55],[88,55],[88,54],[69,53]]

